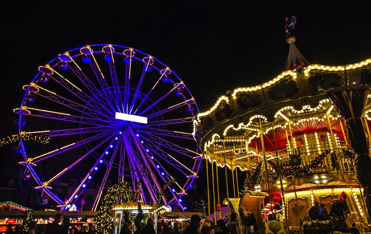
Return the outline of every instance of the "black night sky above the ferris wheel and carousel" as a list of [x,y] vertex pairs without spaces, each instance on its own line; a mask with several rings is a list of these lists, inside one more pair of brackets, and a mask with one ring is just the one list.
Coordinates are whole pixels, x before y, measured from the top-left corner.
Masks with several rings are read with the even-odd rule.
[[296,16],[295,45],[312,64],[371,57],[370,1],[97,2],[1,3],[1,138],[16,134],[12,109],[38,67],[87,44],[153,55],[184,81],[201,111],[227,90],[282,72],[289,52],[285,17]]

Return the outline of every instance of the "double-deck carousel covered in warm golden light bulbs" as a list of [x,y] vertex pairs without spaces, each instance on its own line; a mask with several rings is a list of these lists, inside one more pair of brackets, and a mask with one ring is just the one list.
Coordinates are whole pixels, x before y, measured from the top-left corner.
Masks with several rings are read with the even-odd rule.
[[[227,91],[197,115],[195,136],[211,164],[206,165],[212,174],[208,188],[226,191],[221,203],[228,214],[242,208],[254,214],[257,228],[248,232],[263,226],[274,234],[323,231],[316,221],[304,219],[317,201],[329,215],[322,221],[330,228],[324,232],[369,231],[371,58],[338,66],[310,64],[295,38],[287,41],[290,52],[281,74]],[[219,183],[218,169],[225,171],[226,185]],[[241,180],[244,186],[238,188]],[[210,199],[219,203],[219,193]],[[341,204],[347,206],[339,210]],[[216,207],[213,212],[218,213]]]

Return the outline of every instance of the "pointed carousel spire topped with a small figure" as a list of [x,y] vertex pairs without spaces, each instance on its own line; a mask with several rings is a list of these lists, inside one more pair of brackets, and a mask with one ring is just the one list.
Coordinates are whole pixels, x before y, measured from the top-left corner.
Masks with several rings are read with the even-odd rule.
[[291,70],[295,69],[298,66],[307,66],[310,65],[308,61],[304,58],[304,56],[300,53],[298,48],[295,46],[296,36],[294,33],[294,26],[296,23],[296,17],[295,15],[289,17],[286,17],[286,25],[285,25],[285,33],[286,33],[286,42],[290,44],[290,51],[289,56],[287,57],[285,69]]

